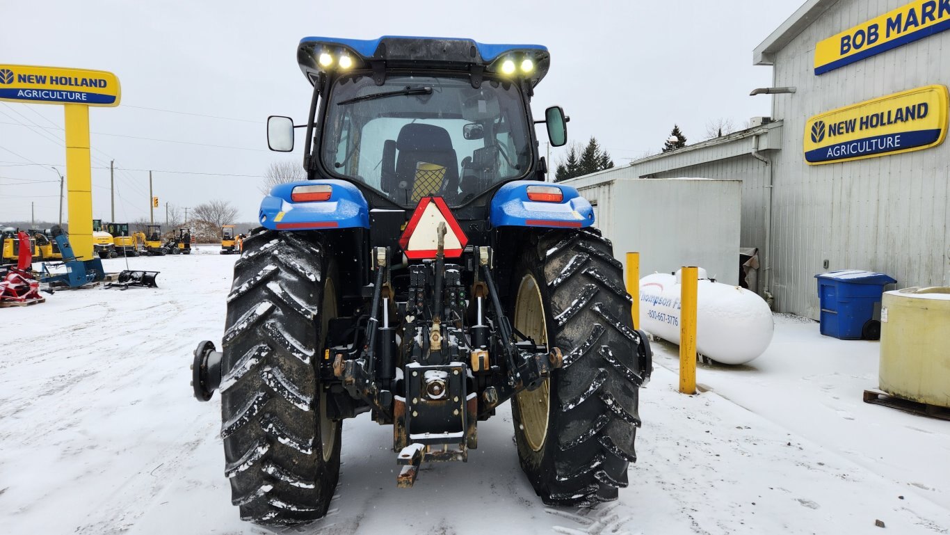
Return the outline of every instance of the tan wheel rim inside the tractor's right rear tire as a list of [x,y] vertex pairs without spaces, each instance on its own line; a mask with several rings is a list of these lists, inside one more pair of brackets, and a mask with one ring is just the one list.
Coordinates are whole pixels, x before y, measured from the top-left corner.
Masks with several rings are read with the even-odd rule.
[[[547,345],[547,322],[541,290],[535,277],[526,275],[518,287],[515,300],[515,329],[533,339],[536,344]],[[517,396],[517,408],[524,439],[528,447],[540,451],[547,438],[548,418],[551,410],[551,386],[544,379],[542,386],[534,391],[523,391]]]

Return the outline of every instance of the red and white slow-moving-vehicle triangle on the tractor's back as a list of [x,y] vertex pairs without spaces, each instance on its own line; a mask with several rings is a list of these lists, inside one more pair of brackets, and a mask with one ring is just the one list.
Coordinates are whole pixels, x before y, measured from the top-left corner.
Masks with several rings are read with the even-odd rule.
[[448,210],[441,197],[424,197],[419,201],[412,218],[399,239],[406,257],[418,260],[435,258],[439,247],[439,223],[446,223],[445,253],[447,258],[458,258],[466,248],[468,237],[462,232],[459,221]]

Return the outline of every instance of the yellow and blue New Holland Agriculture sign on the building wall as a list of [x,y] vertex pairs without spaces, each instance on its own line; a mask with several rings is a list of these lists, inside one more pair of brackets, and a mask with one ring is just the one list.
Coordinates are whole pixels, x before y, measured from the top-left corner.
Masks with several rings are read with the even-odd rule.
[[847,162],[939,145],[948,101],[946,86],[924,86],[816,115],[805,124],[805,160]]

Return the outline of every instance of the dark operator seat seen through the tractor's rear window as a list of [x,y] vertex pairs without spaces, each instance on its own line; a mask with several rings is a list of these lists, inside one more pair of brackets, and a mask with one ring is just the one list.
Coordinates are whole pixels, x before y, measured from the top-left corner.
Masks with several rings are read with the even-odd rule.
[[[384,162],[398,151],[394,173],[384,169],[384,191],[399,202],[418,202],[432,195],[454,199],[459,188],[459,161],[448,131],[432,124],[406,124],[395,142],[384,146]],[[389,154],[387,154],[389,153]],[[389,182],[389,183],[388,183]]]

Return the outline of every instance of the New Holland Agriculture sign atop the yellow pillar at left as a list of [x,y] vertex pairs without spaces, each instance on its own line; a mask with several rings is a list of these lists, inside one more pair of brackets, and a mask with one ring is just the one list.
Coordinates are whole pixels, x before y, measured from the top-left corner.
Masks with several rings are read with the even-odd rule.
[[104,70],[0,65],[0,100],[33,104],[119,105],[119,78]]

